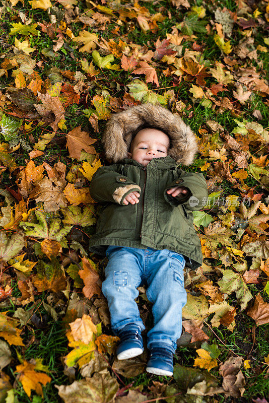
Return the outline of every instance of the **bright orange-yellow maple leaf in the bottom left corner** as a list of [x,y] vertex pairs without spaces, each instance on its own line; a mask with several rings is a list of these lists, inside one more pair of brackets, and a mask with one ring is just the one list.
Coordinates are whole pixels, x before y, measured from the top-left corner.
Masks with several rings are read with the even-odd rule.
[[42,385],[51,381],[51,378],[43,372],[36,372],[38,366],[24,361],[23,364],[17,365],[16,371],[20,373],[19,382],[22,383],[27,395],[31,396],[31,390],[35,390],[37,394],[43,397]]

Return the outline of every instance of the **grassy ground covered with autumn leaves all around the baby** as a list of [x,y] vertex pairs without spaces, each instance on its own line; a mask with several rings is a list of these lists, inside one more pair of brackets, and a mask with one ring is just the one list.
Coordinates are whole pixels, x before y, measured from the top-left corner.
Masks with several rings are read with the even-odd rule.
[[[0,3],[1,403],[267,403],[268,1]],[[209,189],[172,378],[115,359],[88,251],[104,125],[147,101],[196,133]]]

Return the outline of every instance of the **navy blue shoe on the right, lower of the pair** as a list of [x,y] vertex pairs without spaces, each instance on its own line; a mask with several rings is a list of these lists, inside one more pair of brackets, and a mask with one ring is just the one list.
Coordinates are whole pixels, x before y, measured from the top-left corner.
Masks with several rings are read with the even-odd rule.
[[147,372],[155,375],[173,375],[173,353],[165,347],[152,346]]

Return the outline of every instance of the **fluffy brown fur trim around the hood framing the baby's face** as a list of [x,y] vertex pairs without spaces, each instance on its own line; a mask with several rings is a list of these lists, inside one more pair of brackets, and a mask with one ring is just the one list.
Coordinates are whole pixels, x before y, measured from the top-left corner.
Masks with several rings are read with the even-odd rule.
[[198,151],[194,133],[183,120],[163,106],[145,103],[115,113],[102,138],[106,158],[119,163],[127,158],[132,139],[144,127],[164,131],[170,139],[168,155],[178,164],[190,165]]

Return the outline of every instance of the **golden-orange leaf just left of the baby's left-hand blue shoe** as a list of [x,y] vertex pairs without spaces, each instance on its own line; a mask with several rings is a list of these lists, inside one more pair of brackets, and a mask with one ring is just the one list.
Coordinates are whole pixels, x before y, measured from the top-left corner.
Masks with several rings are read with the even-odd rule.
[[90,343],[93,340],[93,334],[97,333],[97,327],[89,315],[83,315],[82,318],[76,319],[74,322],[69,323],[69,325],[74,340],[85,344]]

